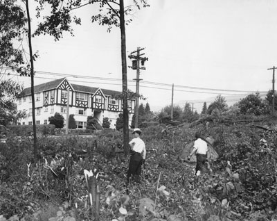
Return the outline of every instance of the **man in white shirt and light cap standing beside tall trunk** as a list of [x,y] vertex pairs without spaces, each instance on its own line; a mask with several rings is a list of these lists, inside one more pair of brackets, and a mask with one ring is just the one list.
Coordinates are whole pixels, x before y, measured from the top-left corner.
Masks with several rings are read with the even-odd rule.
[[145,143],[141,140],[141,130],[135,128],[132,134],[134,134],[134,139],[129,142],[131,158],[127,172],[127,183],[129,183],[132,175],[134,175],[137,182],[140,182],[141,165],[144,163],[146,157]]

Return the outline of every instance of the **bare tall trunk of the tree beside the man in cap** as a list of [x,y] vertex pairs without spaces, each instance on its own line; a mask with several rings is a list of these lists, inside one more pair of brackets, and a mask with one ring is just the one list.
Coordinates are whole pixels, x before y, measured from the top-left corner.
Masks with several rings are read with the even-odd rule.
[[125,155],[129,153],[129,115],[127,103],[127,62],[126,62],[126,35],[125,35],[125,17],[124,2],[120,3],[120,32],[121,32],[121,65],[122,65],[122,90],[123,90],[123,140]]

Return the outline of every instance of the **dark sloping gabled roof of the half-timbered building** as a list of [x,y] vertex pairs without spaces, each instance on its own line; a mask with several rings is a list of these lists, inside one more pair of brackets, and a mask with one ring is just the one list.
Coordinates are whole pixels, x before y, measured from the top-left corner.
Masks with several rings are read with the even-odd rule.
[[[44,92],[47,90],[56,89],[65,80],[66,80],[66,78],[62,78],[62,79],[57,79],[55,81],[49,81],[46,83],[35,85],[34,92],[38,93],[38,92]],[[73,90],[76,92],[84,92],[84,93],[88,93],[88,94],[94,94],[99,89],[99,88],[93,88],[93,87],[84,86],[84,85],[78,85],[78,84],[71,84],[71,86],[72,86]],[[102,89],[102,88],[101,88],[101,90],[105,96],[120,95],[120,93],[121,93],[116,90],[106,90],[106,89]],[[25,88],[24,90],[22,90],[22,92],[19,94],[18,97],[24,97],[26,95],[30,95],[30,93],[31,93],[30,88]]]

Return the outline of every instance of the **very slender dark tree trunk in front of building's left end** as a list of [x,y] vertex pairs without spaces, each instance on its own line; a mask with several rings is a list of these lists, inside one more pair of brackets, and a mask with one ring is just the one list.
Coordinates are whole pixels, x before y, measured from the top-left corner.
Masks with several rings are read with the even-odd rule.
[[32,96],[32,112],[33,112],[33,133],[34,133],[34,161],[37,161],[37,129],[35,126],[35,92],[34,92],[34,60],[32,50],[32,35],[30,28],[30,12],[28,0],[26,0],[26,11],[28,18],[28,41],[29,41],[29,52],[30,52],[30,91]]

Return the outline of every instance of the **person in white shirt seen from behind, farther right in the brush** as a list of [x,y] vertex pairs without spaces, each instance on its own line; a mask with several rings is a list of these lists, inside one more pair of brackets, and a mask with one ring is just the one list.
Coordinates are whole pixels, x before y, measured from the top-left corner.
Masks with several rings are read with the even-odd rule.
[[203,170],[203,165],[206,162],[208,145],[207,142],[201,138],[201,134],[199,132],[195,133],[195,138],[197,138],[197,140],[195,140],[193,150],[190,152],[188,160],[190,160],[190,157],[193,156],[193,154],[196,154],[195,175],[199,176]]

